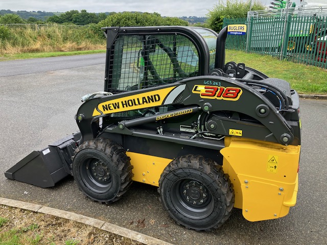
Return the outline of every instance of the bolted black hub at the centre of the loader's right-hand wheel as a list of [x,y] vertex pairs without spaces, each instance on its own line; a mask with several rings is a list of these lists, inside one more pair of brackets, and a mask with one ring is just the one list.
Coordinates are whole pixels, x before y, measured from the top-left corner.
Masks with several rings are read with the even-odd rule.
[[182,198],[183,200],[194,207],[202,207],[207,205],[209,201],[209,194],[206,187],[195,181],[187,180],[182,183]]

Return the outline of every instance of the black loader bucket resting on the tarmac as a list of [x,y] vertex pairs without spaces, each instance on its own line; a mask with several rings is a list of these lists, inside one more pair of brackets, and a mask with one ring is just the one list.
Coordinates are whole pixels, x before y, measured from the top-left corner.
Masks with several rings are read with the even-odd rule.
[[5,172],[11,180],[25,182],[42,188],[52,187],[71,175],[74,150],[80,132],[50,144],[41,151],[34,151]]

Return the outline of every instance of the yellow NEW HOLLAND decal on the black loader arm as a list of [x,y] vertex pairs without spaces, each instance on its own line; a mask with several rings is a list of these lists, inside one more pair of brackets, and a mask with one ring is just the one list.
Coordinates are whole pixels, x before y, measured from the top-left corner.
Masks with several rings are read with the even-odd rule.
[[108,101],[100,103],[98,108],[94,109],[92,116],[160,106],[164,103],[169,92],[175,87],[176,86],[153,90],[114,100],[110,100],[110,97],[108,97]]

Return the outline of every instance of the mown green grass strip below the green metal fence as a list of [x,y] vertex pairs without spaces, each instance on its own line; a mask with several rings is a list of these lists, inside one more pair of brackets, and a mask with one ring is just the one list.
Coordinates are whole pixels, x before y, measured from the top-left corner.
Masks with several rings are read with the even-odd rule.
[[327,70],[316,66],[280,61],[267,55],[226,50],[226,62],[245,63],[268,77],[288,81],[298,93],[327,94]]

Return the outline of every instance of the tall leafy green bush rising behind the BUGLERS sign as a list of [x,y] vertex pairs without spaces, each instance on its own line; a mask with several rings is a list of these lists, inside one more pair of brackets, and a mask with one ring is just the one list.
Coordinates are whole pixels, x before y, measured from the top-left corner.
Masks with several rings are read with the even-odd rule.
[[[254,1],[251,8],[253,11],[264,10],[265,6],[258,1]],[[207,17],[208,27],[212,30],[219,32],[223,26],[224,18],[242,18],[247,17],[247,12],[250,10],[250,1],[242,2],[240,0],[227,0],[226,4],[222,0],[214,5],[209,10]]]

